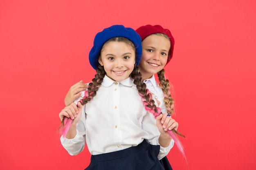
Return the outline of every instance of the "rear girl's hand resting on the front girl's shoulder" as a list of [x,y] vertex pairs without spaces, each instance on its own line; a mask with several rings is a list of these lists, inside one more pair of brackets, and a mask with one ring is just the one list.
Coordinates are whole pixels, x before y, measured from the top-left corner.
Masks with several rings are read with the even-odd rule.
[[71,86],[64,99],[65,105],[69,106],[70,104],[72,104],[75,99],[82,94],[81,91],[85,91],[86,88],[88,88],[88,84],[84,84],[83,80]]

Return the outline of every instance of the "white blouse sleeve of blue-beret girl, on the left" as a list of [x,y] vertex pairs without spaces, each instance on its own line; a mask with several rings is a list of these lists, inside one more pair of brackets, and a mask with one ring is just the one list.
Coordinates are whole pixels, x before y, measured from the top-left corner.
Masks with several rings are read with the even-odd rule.
[[83,106],[82,115],[76,124],[76,136],[73,139],[67,139],[61,136],[61,144],[70,155],[77,155],[85,147],[85,106]]

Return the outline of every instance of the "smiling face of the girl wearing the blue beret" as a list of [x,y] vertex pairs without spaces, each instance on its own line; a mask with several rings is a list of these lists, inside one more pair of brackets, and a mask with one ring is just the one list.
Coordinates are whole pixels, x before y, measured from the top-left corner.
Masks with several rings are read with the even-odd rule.
[[127,79],[135,64],[135,49],[126,42],[110,41],[103,45],[99,63],[106,75],[117,82]]

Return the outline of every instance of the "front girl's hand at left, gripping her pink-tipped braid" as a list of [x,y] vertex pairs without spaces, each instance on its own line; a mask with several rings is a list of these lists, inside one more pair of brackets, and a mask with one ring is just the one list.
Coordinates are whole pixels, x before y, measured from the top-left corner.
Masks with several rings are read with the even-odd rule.
[[78,102],[77,106],[75,103],[72,103],[61,110],[59,117],[61,121],[64,117],[71,118],[74,120],[72,123],[76,124],[82,115],[82,108],[83,105],[80,102]]

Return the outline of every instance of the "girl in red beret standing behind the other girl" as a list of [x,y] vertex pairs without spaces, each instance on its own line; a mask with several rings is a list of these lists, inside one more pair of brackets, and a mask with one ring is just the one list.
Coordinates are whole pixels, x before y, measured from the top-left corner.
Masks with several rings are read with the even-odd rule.
[[[173,57],[173,35],[170,30],[164,29],[160,25],[141,26],[136,32],[142,40],[142,57],[139,63],[139,71],[143,81],[149,91],[157,97],[162,113],[167,113],[164,116],[172,115],[174,112],[174,100],[170,94],[171,84],[169,84],[169,80],[165,77],[164,66]],[[157,74],[159,84],[155,79],[155,74]],[[66,106],[74,102],[76,97],[81,95],[81,91],[84,91],[87,87],[88,85],[84,84],[83,81],[71,86],[64,100]],[[184,137],[184,135],[182,136]],[[180,149],[182,150],[182,148]],[[167,157],[161,159],[160,162],[165,170],[172,170]]]

